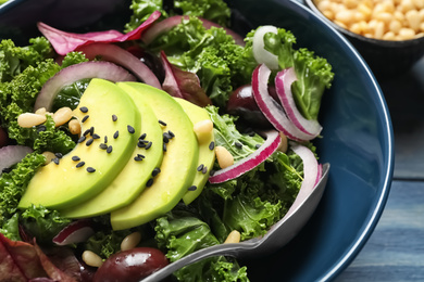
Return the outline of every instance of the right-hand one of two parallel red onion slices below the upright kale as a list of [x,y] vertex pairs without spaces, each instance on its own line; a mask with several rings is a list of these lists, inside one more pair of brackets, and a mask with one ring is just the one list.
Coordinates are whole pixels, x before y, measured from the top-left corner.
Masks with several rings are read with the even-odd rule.
[[322,126],[316,120],[304,118],[296,106],[291,92],[291,84],[296,80],[297,77],[292,67],[278,72],[275,77],[275,90],[278,99],[282,102],[288,118],[297,128],[304,133],[317,137],[323,129]]

